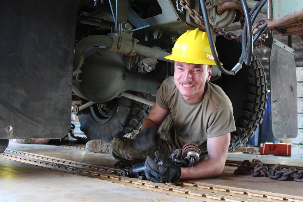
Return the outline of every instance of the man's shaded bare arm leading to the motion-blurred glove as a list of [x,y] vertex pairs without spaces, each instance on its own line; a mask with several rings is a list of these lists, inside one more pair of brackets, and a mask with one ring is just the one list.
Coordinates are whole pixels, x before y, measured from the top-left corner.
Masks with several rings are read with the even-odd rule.
[[162,109],[157,102],[155,102],[154,106],[151,108],[146,119],[143,121],[141,130],[146,127],[160,127],[161,123],[164,121],[168,114],[169,110]]

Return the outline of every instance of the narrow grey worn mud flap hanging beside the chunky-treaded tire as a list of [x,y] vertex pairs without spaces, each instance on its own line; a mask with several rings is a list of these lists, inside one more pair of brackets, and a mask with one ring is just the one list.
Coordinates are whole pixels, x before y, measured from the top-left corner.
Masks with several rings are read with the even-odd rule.
[[273,39],[269,67],[273,136],[295,138],[298,134],[298,119],[294,50]]

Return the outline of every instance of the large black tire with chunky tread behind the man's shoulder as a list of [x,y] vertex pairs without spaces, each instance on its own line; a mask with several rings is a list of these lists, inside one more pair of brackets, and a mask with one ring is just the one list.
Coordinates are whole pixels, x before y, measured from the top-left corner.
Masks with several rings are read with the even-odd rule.
[[[241,44],[219,36],[216,38],[216,48],[223,67],[231,70],[241,56]],[[247,143],[248,138],[254,136],[257,124],[262,122],[264,109],[267,107],[266,74],[260,60],[253,54],[251,65],[243,63],[237,74],[222,74],[222,77],[213,83],[221,86],[233,105],[237,131],[231,133],[231,152]]]

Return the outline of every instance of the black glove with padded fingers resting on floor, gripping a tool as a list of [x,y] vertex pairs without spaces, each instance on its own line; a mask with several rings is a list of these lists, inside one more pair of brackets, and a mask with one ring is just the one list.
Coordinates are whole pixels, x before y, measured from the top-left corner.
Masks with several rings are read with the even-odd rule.
[[161,161],[157,164],[148,156],[145,160],[145,176],[148,180],[157,183],[166,183],[178,180],[181,176],[181,168],[168,156],[155,152],[156,158]]

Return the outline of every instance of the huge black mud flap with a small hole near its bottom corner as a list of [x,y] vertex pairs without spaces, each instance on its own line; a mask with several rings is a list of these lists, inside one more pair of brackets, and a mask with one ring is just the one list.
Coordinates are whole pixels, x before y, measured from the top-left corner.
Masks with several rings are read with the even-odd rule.
[[77,8],[78,0],[1,1],[0,139],[68,133]]

